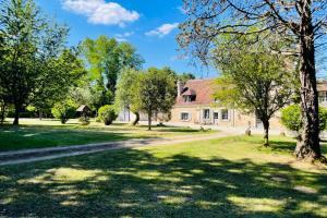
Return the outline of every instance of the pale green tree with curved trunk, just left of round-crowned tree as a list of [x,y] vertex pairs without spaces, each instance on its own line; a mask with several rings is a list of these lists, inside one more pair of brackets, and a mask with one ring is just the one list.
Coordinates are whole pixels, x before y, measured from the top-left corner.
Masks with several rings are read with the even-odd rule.
[[133,69],[125,69],[117,84],[114,105],[117,111],[120,111],[122,108],[126,108],[132,111],[136,118],[133,121],[133,125],[136,125],[140,121],[140,108],[135,99],[137,97],[136,85],[138,82],[140,72]]

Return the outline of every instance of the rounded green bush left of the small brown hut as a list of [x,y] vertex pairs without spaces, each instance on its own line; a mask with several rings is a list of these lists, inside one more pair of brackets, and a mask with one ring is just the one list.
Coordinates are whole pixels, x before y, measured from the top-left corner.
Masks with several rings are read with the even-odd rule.
[[76,106],[72,100],[57,102],[51,109],[51,113],[55,118],[59,119],[62,124],[73,118],[76,113]]

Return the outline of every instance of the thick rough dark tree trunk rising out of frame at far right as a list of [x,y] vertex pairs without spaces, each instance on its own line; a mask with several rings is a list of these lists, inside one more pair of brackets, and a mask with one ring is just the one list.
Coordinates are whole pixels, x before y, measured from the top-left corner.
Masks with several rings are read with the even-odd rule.
[[312,2],[303,1],[303,14],[301,22],[301,109],[303,129],[301,140],[295,148],[295,156],[299,159],[322,157],[319,145],[319,113],[318,113],[318,93],[315,69],[315,43],[314,27],[312,24]]

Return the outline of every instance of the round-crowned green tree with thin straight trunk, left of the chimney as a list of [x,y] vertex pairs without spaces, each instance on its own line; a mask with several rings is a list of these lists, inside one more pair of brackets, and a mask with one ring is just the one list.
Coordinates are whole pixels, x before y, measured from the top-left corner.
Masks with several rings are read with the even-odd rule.
[[148,116],[148,130],[155,112],[169,112],[175,100],[174,78],[166,69],[150,68],[140,75],[136,86],[137,108]]

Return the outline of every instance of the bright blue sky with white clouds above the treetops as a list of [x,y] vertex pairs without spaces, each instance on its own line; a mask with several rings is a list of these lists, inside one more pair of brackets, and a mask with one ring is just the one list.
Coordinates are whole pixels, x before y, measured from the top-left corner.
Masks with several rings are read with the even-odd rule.
[[177,25],[185,19],[181,0],[36,0],[43,11],[66,24],[69,45],[86,37],[116,37],[133,44],[145,59],[145,68],[170,66],[178,73],[191,72],[197,77],[215,76],[181,59],[175,35]]

